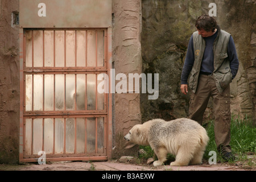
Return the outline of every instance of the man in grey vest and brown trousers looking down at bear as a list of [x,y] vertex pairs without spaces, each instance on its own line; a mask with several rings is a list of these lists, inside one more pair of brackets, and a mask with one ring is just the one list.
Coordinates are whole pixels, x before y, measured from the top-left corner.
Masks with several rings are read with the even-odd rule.
[[[200,124],[209,98],[213,98],[214,134],[217,150],[225,160],[233,159],[230,143],[230,87],[237,75],[238,57],[232,36],[220,30],[216,20],[201,15],[197,31],[189,40],[181,73],[181,92],[191,88],[189,118]],[[189,80],[188,80],[189,78]]]

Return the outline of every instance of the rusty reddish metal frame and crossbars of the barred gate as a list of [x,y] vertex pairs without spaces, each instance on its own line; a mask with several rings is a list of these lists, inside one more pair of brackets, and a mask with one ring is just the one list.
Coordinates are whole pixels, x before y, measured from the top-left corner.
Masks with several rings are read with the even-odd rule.
[[[20,60],[20,118],[19,118],[19,162],[38,162],[38,158],[40,156],[34,156],[35,158],[24,158],[24,144],[25,144],[25,127],[24,123],[26,121],[26,118],[36,118],[40,116],[40,118],[46,118],[51,116],[52,118],[57,117],[64,117],[64,118],[79,118],[79,117],[98,117],[99,115],[103,114],[103,117],[106,119],[106,130],[105,136],[106,137],[106,156],[82,156],[81,154],[76,154],[76,156],[72,154],[61,154],[56,155],[52,157],[49,155],[49,158],[46,156],[47,161],[63,161],[63,160],[110,160],[112,159],[112,93],[106,94],[106,113],[79,113],[79,112],[72,112],[72,113],[58,113],[56,111],[52,112],[49,111],[43,111],[43,113],[26,113],[25,112],[25,103],[24,98],[25,92],[24,92],[24,86],[25,86],[25,75],[28,73],[28,71],[31,71],[29,69],[25,68],[25,59],[26,59],[26,40],[25,40],[25,34],[24,31],[26,30],[106,30],[105,35],[105,69],[70,69],[70,67],[65,67],[66,69],[63,69],[61,72],[64,74],[67,74],[67,72],[72,72],[74,74],[77,73],[98,73],[99,71],[105,71],[107,75],[110,75],[110,69],[112,68],[112,28],[19,28],[19,60]],[[64,67],[63,67],[64,68]],[[38,70],[37,72],[40,72],[40,74],[46,74],[46,73],[56,73],[57,69],[55,67],[48,68],[45,70]],[[58,72],[60,73],[60,72]],[[109,81],[109,88],[110,88],[110,81]],[[104,116],[105,115],[105,116]],[[76,140],[76,139],[75,139]]]

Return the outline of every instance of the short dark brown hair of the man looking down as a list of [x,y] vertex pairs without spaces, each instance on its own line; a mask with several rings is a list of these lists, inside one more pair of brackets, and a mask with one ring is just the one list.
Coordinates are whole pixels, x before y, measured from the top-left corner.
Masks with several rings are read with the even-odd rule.
[[196,28],[198,30],[205,30],[207,32],[212,31],[214,32],[215,28],[218,27],[216,20],[209,15],[201,15],[196,20]]

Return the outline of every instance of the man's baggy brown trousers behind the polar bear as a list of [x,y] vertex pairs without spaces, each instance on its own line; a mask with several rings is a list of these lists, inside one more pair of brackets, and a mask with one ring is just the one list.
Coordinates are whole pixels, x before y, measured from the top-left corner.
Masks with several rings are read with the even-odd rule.
[[196,93],[191,94],[189,104],[189,118],[202,125],[204,111],[209,98],[213,98],[214,135],[217,150],[221,154],[231,152],[230,143],[230,86],[222,93],[218,92],[213,76],[201,75]]

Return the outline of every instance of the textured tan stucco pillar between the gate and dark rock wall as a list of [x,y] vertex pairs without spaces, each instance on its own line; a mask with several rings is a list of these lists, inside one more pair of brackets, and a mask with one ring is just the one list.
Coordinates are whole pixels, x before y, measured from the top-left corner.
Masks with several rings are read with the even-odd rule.
[[[114,0],[113,11],[113,38],[112,59],[115,75],[124,73],[141,74],[141,1],[140,0]],[[119,81],[115,81],[117,84]],[[128,89],[128,86],[127,86]],[[141,108],[139,93],[114,94],[114,123],[113,123],[113,154],[115,158],[120,155],[138,154],[138,148],[124,149],[127,142],[124,135],[135,124],[141,123]]]

